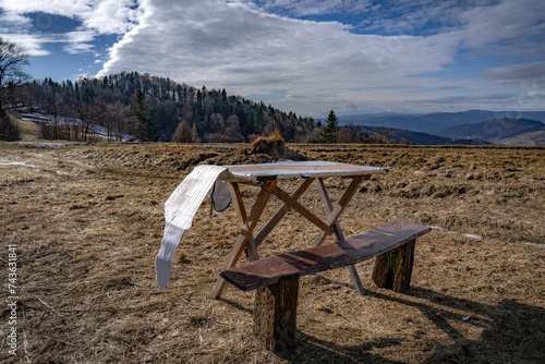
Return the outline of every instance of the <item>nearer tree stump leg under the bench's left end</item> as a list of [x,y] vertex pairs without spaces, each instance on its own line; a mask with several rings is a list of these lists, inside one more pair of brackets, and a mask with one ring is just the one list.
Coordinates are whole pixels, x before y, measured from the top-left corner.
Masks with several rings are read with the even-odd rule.
[[295,345],[298,295],[299,278],[255,292],[254,333],[264,349],[280,352]]

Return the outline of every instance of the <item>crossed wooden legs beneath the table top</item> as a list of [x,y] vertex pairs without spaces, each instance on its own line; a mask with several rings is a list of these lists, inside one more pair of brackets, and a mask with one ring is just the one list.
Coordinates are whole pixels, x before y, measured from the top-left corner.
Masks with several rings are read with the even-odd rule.
[[[298,190],[292,194],[288,194],[277,186],[277,181],[266,181],[262,185],[262,191],[257,195],[257,198],[252,206],[250,211],[250,216],[246,216],[246,211],[244,208],[244,204],[242,202],[242,196],[240,194],[239,184],[234,182],[228,182],[229,189],[231,192],[232,199],[234,202],[234,208],[237,210],[237,216],[239,222],[241,223],[241,232],[237,239],[237,242],[233,246],[229,258],[223,265],[223,269],[229,269],[234,267],[239,262],[242,252],[246,250],[246,255],[251,260],[258,259],[259,256],[257,254],[257,246],[265,240],[265,238],[272,231],[272,229],[278,225],[278,222],[283,218],[283,216],[290,210],[294,209],[300,215],[308,219],[315,226],[317,226],[320,231],[316,239],[314,240],[313,246],[320,245],[325,239],[335,233],[338,240],[344,239],[342,230],[339,226],[338,219],[341,214],[344,211],[344,208],[348,206],[352,197],[354,196],[358,186],[360,185],[362,175],[353,177],[350,185],[347,191],[344,191],[342,197],[339,202],[334,206],[331,201],[329,199],[329,195],[325,189],[324,181],[322,179],[308,178],[303,181],[303,183],[298,187]],[[322,198],[326,206],[326,211],[328,213],[328,217],[326,221],[322,221],[318,217],[316,217],[312,211],[306,209],[303,205],[298,202],[298,198],[308,189],[308,186],[316,180],[318,185],[318,191],[322,195]],[[265,207],[267,206],[267,202],[270,198],[270,195],[277,196],[281,199],[284,205],[272,216],[272,218],[262,228],[262,230],[254,238],[253,232],[259,220]],[[360,277],[355,267],[349,266],[348,270],[350,276],[352,277],[352,282],[358,293],[365,294],[365,291],[362,287]],[[227,282],[223,278],[218,278],[216,281],[216,286],[211,292],[213,299],[218,299]]]

